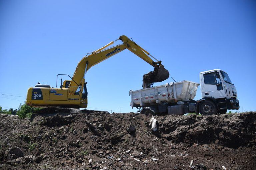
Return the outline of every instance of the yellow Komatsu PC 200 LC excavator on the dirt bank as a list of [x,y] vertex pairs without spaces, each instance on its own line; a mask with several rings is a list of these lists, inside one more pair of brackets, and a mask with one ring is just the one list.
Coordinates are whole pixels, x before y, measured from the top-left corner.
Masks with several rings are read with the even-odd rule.
[[[106,48],[118,40],[121,40],[123,43]],[[27,92],[26,104],[32,107],[45,108],[37,112],[37,114],[41,115],[52,116],[52,114],[54,115],[56,113],[79,113],[79,108],[87,107],[87,89],[84,79],[87,71],[92,66],[108,59],[124,49],[130,50],[155,68],[153,72],[150,72],[150,83],[161,82],[169,77],[169,72],[161,64],[161,61],[158,61],[149,52],[133,42],[131,38],[120,36],[119,39],[112,41],[83,57],[78,63],[72,78],[66,74],[58,74],[56,88],[51,88],[50,85],[43,85],[40,83],[35,87],[30,87]],[[156,61],[153,61],[150,57],[154,58]],[[57,87],[59,75],[66,75],[71,79],[63,81],[63,84],[61,81],[60,88]]]

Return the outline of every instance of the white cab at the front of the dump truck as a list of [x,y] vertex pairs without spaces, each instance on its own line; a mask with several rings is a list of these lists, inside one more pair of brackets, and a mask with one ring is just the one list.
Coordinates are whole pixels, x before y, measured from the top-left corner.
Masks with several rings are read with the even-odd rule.
[[237,91],[228,74],[220,69],[200,73],[202,99],[205,103],[199,108],[200,112],[210,112],[212,105],[215,112],[224,114],[227,110],[238,110]]

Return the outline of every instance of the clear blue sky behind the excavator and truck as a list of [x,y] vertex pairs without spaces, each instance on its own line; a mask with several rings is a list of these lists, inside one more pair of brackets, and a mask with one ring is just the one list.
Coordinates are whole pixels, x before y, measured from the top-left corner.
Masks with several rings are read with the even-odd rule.
[[[255,1],[0,1],[0,106],[17,108],[37,82],[56,86],[88,52],[121,35],[162,60],[177,81],[226,71],[241,111],[256,111]],[[121,42],[121,41],[120,41]],[[129,90],[153,67],[125,50],[86,74],[88,109],[136,112]],[[65,79],[65,77],[63,77]],[[162,85],[171,82],[169,78]],[[7,95],[14,96],[7,96]],[[200,99],[200,88],[195,99]]]

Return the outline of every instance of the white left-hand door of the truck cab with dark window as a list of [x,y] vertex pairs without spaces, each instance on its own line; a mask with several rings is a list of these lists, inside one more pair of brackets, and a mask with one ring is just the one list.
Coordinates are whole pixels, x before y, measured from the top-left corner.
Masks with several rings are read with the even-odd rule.
[[202,97],[211,96],[215,99],[226,97],[218,71],[203,74],[203,80],[204,93],[202,93]]

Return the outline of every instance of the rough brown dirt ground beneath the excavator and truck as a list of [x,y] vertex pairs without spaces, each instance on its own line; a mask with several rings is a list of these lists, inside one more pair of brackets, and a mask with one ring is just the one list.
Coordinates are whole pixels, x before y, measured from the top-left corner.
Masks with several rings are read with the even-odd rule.
[[[0,116],[0,169],[255,169],[256,112]],[[193,161],[191,161],[193,160]]]

